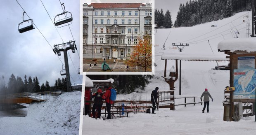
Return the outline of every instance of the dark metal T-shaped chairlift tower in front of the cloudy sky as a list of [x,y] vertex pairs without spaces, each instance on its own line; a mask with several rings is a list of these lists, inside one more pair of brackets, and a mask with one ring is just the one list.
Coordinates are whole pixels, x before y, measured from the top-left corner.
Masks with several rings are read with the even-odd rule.
[[[68,54],[67,51],[71,49],[72,53],[75,53],[76,44],[75,41],[69,41],[63,44],[54,45],[54,51],[60,56],[60,52],[63,51],[64,53],[64,61],[65,61],[65,70],[66,70],[66,88],[67,91],[71,91],[71,83],[70,83],[70,74],[69,74],[69,61],[68,61]],[[77,50],[77,49],[76,49]],[[55,53],[55,54],[56,54]]]

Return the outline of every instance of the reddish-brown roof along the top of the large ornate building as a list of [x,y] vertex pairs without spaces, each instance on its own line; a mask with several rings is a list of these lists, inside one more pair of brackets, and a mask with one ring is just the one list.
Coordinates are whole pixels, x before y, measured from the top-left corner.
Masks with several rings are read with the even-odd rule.
[[139,8],[142,3],[91,3],[88,6],[92,6],[95,9],[107,9],[107,8]]

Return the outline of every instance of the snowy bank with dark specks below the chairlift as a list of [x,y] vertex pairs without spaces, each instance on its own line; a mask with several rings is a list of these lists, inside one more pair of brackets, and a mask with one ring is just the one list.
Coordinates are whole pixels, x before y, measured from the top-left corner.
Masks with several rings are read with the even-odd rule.
[[0,118],[1,135],[78,135],[81,91],[33,103],[25,117]]

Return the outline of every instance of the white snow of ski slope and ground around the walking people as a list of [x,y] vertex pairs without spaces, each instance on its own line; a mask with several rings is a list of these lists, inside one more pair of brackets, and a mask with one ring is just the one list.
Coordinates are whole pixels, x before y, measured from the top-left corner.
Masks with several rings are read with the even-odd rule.
[[[248,14],[249,13],[249,14]],[[158,29],[155,32],[155,75],[152,83],[147,85],[145,91],[118,95],[117,100],[150,99],[151,91],[158,86],[159,90],[168,90],[169,86],[161,77],[164,75],[164,61],[161,60],[163,52],[178,52],[172,43],[190,43],[182,53],[226,55],[218,52],[217,45],[225,39],[232,39],[231,27],[236,26],[239,30],[238,37],[246,37],[246,22],[243,17],[251,12],[241,12],[234,16],[204,23],[193,27]],[[250,18],[250,17],[249,17]],[[245,19],[245,21],[247,21]],[[232,24],[232,23],[233,24]],[[217,27],[211,27],[216,25]],[[171,35],[162,49],[166,36],[171,30]],[[235,30],[235,28],[233,28]],[[234,34],[234,33],[233,33]],[[223,35],[223,36],[222,36]],[[190,40],[191,39],[191,40]],[[189,40],[189,41],[186,41]],[[209,46],[209,43],[211,48]],[[227,65],[229,62],[219,62],[219,65]],[[174,61],[168,61],[167,74]],[[255,116],[243,118],[239,122],[223,121],[224,88],[229,86],[229,71],[211,70],[216,62],[182,61],[182,95],[201,96],[205,88],[213,97],[210,102],[210,113],[202,113],[203,105],[175,106],[175,111],[159,109],[157,114],[129,114],[128,118],[121,119],[92,119],[83,117],[83,135],[249,135],[256,132]],[[179,80],[175,82],[175,95],[179,94]],[[187,100],[187,102],[191,102]],[[199,98],[196,99],[196,102]],[[175,100],[175,104],[184,103],[184,99]]]

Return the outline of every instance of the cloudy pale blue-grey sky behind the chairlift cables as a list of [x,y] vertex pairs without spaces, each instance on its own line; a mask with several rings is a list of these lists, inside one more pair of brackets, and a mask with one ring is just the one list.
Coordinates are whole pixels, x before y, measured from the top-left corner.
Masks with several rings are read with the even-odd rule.
[[[33,19],[52,47],[54,44],[62,44],[62,39],[64,42],[73,40],[68,26],[57,28],[62,39],[60,38],[40,0],[18,0],[18,2],[28,16]],[[59,0],[42,0],[42,2],[52,19],[63,12]],[[79,49],[79,2],[74,2],[74,0],[61,0],[61,2],[64,3],[66,11],[71,12],[73,15],[73,22],[70,28]],[[0,12],[0,76],[2,77],[3,75],[5,77],[6,85],[12,73],[15,77],[21,77],[23,81],[25,74],[31,77],[37,76],[40,85],[47,80],[50,86],[55,84],[55,79],[66,77],[60,75],[62,63],[59,58],[64,63],[63,52],[58,58],[36,28],[25,33],[19,33],[18,23],[22,22],[23,10],[16,0],[1,0]],[[24,19],[28,19],[28,17],[24,15]],[[73,66],[68,56],[70,74],[73,78],[71,83],[81,84],[82,75],[79,76],[80,81],[77,74],[79,68],[77,53],[79,51],[72,53],[69,50],[68,52],[74,63]]]

